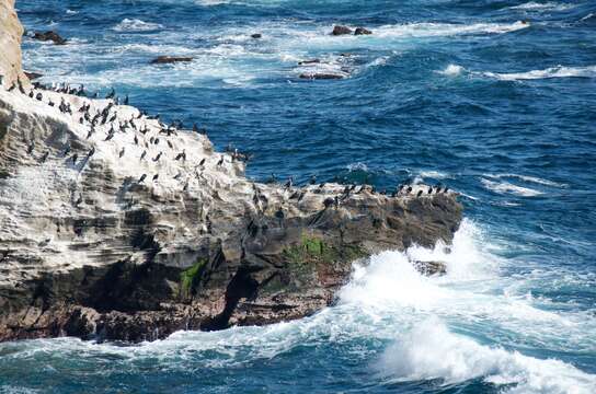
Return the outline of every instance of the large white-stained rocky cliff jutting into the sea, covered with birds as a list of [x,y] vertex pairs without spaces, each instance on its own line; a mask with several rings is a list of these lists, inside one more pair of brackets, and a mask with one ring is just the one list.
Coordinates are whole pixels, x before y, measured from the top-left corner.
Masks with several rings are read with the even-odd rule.
[[0,89],[0,340],[136,341],[314,313],[354,260],[451,241],[456,194],[427,188],[259,184],[206,136],[134,107]]

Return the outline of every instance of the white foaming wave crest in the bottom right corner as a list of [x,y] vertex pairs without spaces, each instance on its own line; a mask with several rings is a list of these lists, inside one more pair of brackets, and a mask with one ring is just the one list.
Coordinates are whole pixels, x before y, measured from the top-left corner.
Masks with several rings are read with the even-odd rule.
[[394,381],[440,379],[458,383],[483,378],[513,384],[507,393],[593,393],[596,376],[559,360],[541,360],[480,345],[451,333],[438,318],[419,323],[383,354],[381,373]]

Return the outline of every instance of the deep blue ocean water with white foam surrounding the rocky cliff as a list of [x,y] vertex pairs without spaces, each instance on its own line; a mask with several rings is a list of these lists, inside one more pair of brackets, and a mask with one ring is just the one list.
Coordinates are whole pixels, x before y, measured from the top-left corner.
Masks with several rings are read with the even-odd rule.
[[[218,149],[254,154],[254,179],[440,182],[466,219],[450,254],[373,256],[337,305],[299,321],[135,346],[0,344],[0,392],[596,393],[594,0],[16,7],[27,30],[70,39],[25,38],[44,82],[114,86],[197,121]],[[374,34],[333,37],[334,24]],[[149,66],[159,55],[194,60]],[[345,78],[298,78],[312,71]],[[408,255],[448,274],[422,277]]]

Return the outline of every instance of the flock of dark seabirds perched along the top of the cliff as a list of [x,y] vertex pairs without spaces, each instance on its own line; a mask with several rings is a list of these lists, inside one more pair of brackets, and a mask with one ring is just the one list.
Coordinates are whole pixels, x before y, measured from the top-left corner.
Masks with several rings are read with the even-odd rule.
[[[0,79],[0,81],[1,81],[1,79]],[[28,95],[31,99],[37,100],[39,102],[44,102],[44,93],[43,93],[44,91],[54,91],[56,93],[71,94],[71,95],[84,96],[84,97],[90,97],[90,99],[99,99],[99,92],[95,92],[92,95],[88,95],[88,93],[85,91],[85,88],[82,84],[79,88],[71,88],[69,84],[66,84],[66,83],[53,84],[51,86],[46,86],[46,85],[43,85],[41,83],[34,83],[33,89],[31,89],[27,92],[24,89],[22,82],[20,80],[18,80],[18,82],[14,83],[8,91],[12,92],[12,91],[14,91],[16,89],[22,94]],[[162,137],[162,136],[165,137],[164,139],[165,139],[165,142],[168,143],[169,149],[174,149],[172,142],[168,138],[171,137],[172,135],[175,136],[177,130],[183,129],[184,125],[183,125],[182,120],[173,120],[170,125],[165,125],[160,120],[160,115],[159,114],[153,115],[153,116],[149,116],[147,114],[147,112],[145,112],[145,111],[140,112],[139,111],[139,113],[138,113],[138,115],[136,117],[131,116],[130,119],[125,120],[125,121],[121,121],[121,120],[117,120],[117,115],[118,114],[117,114],[117,109],[115,108],[117,105],[121,105],[121,100],[116,95],[115,90],[111,89],[110,93],[105,96],[105,99],[108,100],[108,104],[105,107],[103,107],[102,111],[98,109],[98,112],[95,114],[91,113],[91,104],[88,103],[88,104],[83,104],[80,108],[76,108],[77,114],[78,114],[78,115],[76,115],[73,113],[71,104],[66,102],[64,100],[64,97],[60,99],[60,103],[57,105],[57,108],[60,111],[60,113],[69,114],[74,118],[77,116],[79,116],[79,119],[78,119],[79,124],[89,126],[89,132],[88,132],[88,136],[87,136],[88,139],[96,132],[96,127],[110,125],[110,129],[107,130],[107,135],[105,136],[104,141],[110,141],[112,138],[114,138],[114,136],[116,135],[117,131],[127,132],[127,130],[130,129],[130,130],[134,130],[133,131],[133,134],[134,134],[134,140],[133,141],[134,141],[134,143],[136,146],[139,146],[141,143],[141,141],[139,141],[137,132],[139,132],[140,135],[142,135],[145,137],[149,130],[147,129],[147,125],[145,125],[144,127],[140,127],[135,123],[135,120],[142,119],[142,118],[148,119],[148,120],[157,120],[158,125],[159,125],[158,135],[156,137],[150,137],[149,141],[145,140],[144,143],[145,143],[146,150],[144,150],[144,152],[140,155],[141,161],[147,160],[146,157],[147,157],[150,144],[154,144],[154,146],[159,144],[160,137]],[[125,99],[122,100],[122,104],[123,105],[128,105],[128,102],[129,102],[129,99],[128,99],[128,95],[126,95]],[[48,99],[47,105],[49,105],[51,107],[56,107],[56,103],[54,103],[51,101],[51,97]],[[112,109],[114,109],[114,111],[112,112]],[[117,120],[117,123],[116,123],[116,120]],[[116,124],[117,126],[114,127],[114,124]],[[199,129],[196,123],[193,125],[193,131],[197,132],[197,134],[200,134],[200,135],[206,135],[206,130],[204,128]],[[77,152],[71,152],[71,149],[72,149],[71,146],[67,144],[66,149],[64,151],[64,157],[66,158],[70,153],[72,153],[72,155],[70,157],[70,160],[74,164],[74,163],[77,163],[77,160],[79,159],[79,154]],[[30,144],[27,147],[27,154],[32,155],[34,150],[35,150],[34,142],[30,142]],[[251,158],[250,153],[239,152],[238,149],[232,149],[231,146],[228,146],[226,151],[228,153],[230,153],[232,162],[234,160],[248,161]],[[92,147],[87,152],[87,154],[84,155],[84,163],[87,163],[93,157],[94,153],[95,153],[95,148]],[[126,150],[123,147],[121,149],[119,153],[118,153],[118,158],[122,159],[125,154],[126,154]],[[39,158],[39,162],[42,162],[42,163],[45,162],[48,159],[48,157],[49,157],[49,151],[46,151]],[[151,158],[151,160],[153,162],[159,162],[162,157],[163,157],[163,152],[159,151],[159,153],[157,155],[154,155],[153,158]],[[175,157],[174,157],[174,160],[175,161],[179,161],[179,160],[186,161],[186,151],[183,149],[182,151],[177,152],[175,154]],[[195,166],[195,169],[196,167],[204,169],[206,160],[207,160],[207,158],[203,158],[200,160],[200,162],[198,163],[198,165]],[[224,164],[224,162],[225,162],[225,155],[221,155],[221,158],[217,162],[217,167],[220,167]],[[181,176],[182,176],[182,174],[179,173],[177,175],[174,176],[174,179],[179,179]],[[142,174],[138,178],[137,183],[141,184],[141,183],[144,183],[146,181],[146,178],[147,178],[147,174]],[[159,178],[159,173],[157,173],[157,174],[154,174],[152,176],[152,182],[157,182],[158,178]],[[267,183],[277,183],[277,179],[276,179],[274,174],[272,174],[272,176],[267,181]],[[317,176],[316,175],[311,176],[311,178],[309,181],[309,184],[310,185],[316,185],[317,184]],[[294,186],[294,177],[290,176],[287,179],[287,182],[285,183],[285,189],[291,192],[293,186]],[[321,183],[319,185],[319,188],[323,189],[324,186],[325,186],[325,183]],[[187,188],[188,188],[188,183],[186,182],[186,184],[183,187],[183,190],[187,190]],[[254,199],[255,199],[255,204],[256,204],[256,201],[259,199],[263,199],[264,196],[262,196],[259,188],[254,187],[254,189],[255,189]],[[345,186],[345,188],[343,189],[341,195],[335,196],[334,198],[330,197],[330,198],[324,199],[323,205],[324,205],[325,208],[333,207],[333,206],[335,208],[337,208],[339,205],[343,200],[345,200],[349,195],[359,194],[359,193],[365,192],[365,190],[367,190],[367,192],[369,192],[371,194],[377,193],[377,190],[375,189],[374,186],[359,185],[359,188],[358,188],[358,186],[355,185],[355,184],[347,185],[347,186]],[[396,190],[393,193],[391,193],[391,197],[408,196],[408,195],[411,195],[413,190],[414,190],[413,185],[411,185],[411,184],[410,185],[401,184],[399,187],[396,188]],[[426,189],[423,189],[423,188],[419,187],[419,190],[416,192],[415,196],[416,197],[422,197],[423,195],[447,194],[448,192],[449,192],[448,187],[443,186],[440,184],[437,184],[435,186],[428,186],[428,188],[426,188]],[[303,198],[303,196],[306,195],[306,193],[307,193],[306,190],[296,190],[291,195],[290,199],[301,200]],[[385,189],[380,190],[379,194],[387,195],[387,190],[385,190]],[[78,206],[80,202],[82,202],[82,197],[79,197],[79,200],[77,200],[77,202],[74,205]]]

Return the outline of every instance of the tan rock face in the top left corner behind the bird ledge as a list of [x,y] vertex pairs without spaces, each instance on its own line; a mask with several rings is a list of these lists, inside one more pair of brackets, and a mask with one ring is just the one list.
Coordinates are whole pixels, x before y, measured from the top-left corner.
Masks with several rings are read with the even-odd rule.
[[0,0],[0,88],[10,88],[21,80],[28,86],[28,79],[21,69],[21,38],[23,26],[14,11],[14,0]]

